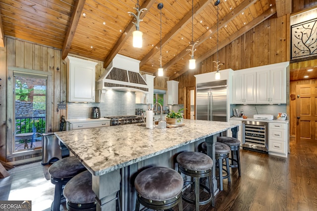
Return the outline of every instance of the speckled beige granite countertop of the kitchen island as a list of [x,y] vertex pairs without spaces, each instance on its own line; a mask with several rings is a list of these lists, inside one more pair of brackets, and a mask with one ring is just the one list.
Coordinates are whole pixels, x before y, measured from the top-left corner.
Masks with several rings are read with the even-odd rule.
[[103,175],[239,124],[184,120],[185,126],[154,128],[138,124],[55,132],[93,175]]

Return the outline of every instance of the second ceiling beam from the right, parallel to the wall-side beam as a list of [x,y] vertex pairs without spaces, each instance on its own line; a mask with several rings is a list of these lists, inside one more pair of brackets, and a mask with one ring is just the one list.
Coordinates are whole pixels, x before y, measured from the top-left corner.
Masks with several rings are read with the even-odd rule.
[[[254,4],[257,0],[244,0],[242,3],[240,3],[236,8],[232,10],[229,14],[224,16],[221,20],[219,20],[218,28],[224,27],[227,23],[229,23],[231,20],[233,20],[235,17],[237,17],[239,14],[241,14],[242,11],[244,11],[246,8]],[[216,7],[215,7],[216,8]],[[217,32],[217,24],[213,25],[210,30],[205,32],[200,38],[198,38],[197,41],[199,41],[196,44],[196,47],[198,47],[200,44],[205,42],[207,39],[209,39],[214,33]],[[196,41],[195,41],[196,42]],[[176,62],[181,60],[184,56],[188,54],[188,51],[186,49],[191,48],[191,46],[187,46],[185,49],[183,49],[178,55],[176,55],[173,59],[169,60],[165,65],[163,65],[163,69],[167,69],[170,66],[174,65]],[[157,73],[157,71],[156,71]]]

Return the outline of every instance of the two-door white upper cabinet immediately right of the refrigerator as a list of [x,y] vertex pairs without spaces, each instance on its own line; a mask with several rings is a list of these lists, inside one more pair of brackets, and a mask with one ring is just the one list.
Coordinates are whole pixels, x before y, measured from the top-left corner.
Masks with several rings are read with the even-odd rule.
[[256,72],[238,72],[234,74],[232,78],[232,103],[256,103]]

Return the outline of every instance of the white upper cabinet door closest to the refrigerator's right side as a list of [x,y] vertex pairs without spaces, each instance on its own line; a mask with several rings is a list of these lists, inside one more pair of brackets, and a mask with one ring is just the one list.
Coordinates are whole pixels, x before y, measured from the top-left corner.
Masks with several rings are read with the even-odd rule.
[[232,103],[244,103],[244,74],[237,74],[232,77]]

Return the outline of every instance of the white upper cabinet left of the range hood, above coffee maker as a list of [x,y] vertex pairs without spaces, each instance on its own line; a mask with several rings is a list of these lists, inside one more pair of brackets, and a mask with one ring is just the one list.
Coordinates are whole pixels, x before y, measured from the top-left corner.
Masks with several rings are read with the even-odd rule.
[[67,101],[95,102],[97,62],[67,56]]

